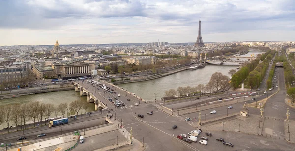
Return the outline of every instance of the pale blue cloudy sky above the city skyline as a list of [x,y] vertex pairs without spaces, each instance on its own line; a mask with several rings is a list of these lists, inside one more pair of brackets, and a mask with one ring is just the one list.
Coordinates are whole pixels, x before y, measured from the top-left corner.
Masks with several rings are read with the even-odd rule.
[[0,46],[295,41],[295,0],[0,0]]

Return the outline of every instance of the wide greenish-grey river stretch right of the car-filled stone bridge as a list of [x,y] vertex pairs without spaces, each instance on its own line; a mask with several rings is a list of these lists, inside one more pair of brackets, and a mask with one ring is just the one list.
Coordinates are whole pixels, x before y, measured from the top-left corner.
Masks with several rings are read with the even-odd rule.
[[198,84],[206,85],[215,72],[221,72],[230,77],[228,72],[236,68],[237,66],[206,65],[204,68],[197,70],[185,70],[159,79],[120,84],[118,86],[135,93],[145,100],[154,100],[155,96],[156,99],[160,99],[165,96],[165,91],[169,89],[177,90],[179,86],[196,87]]

